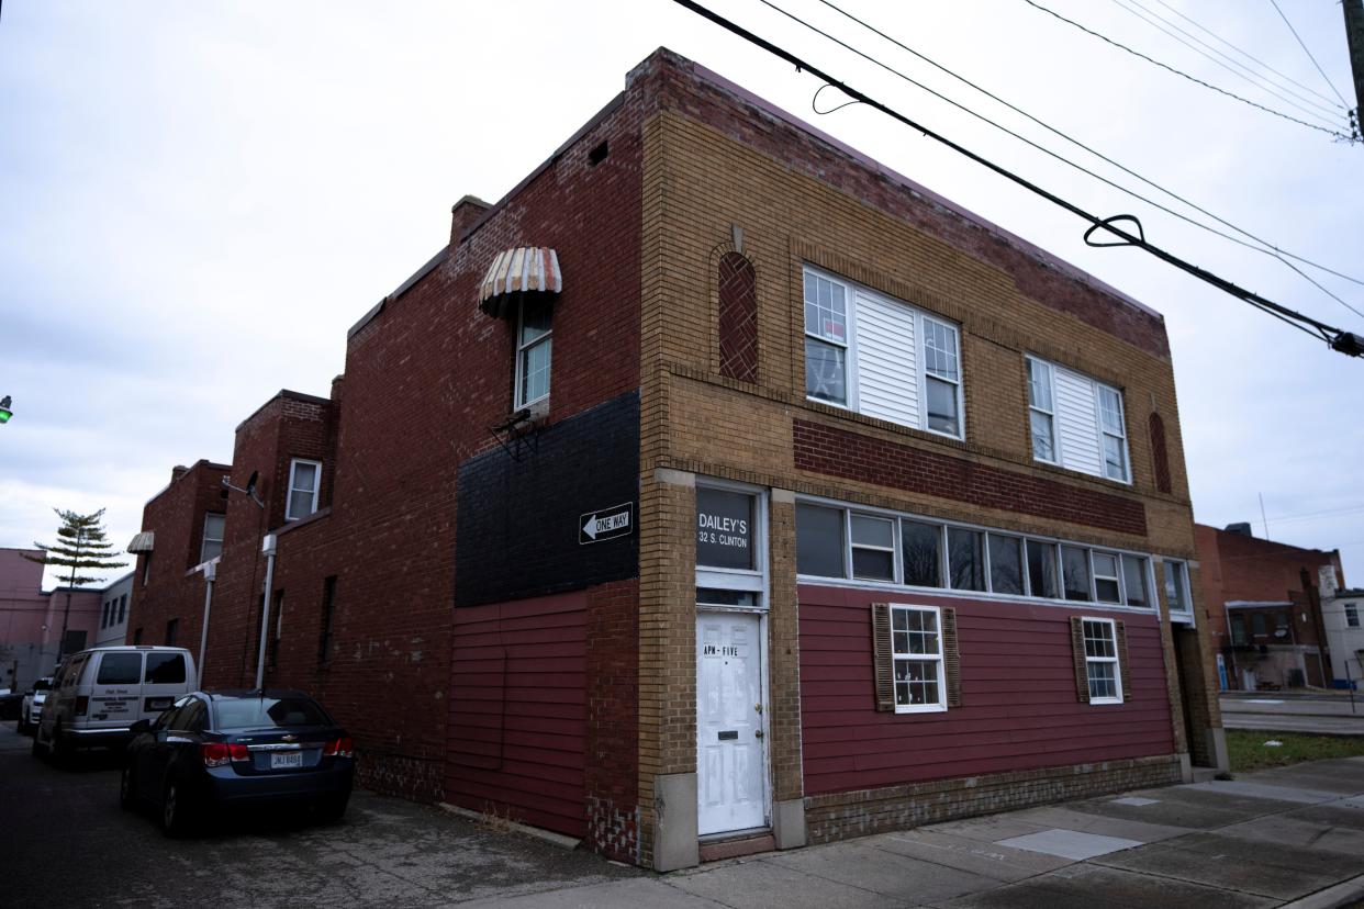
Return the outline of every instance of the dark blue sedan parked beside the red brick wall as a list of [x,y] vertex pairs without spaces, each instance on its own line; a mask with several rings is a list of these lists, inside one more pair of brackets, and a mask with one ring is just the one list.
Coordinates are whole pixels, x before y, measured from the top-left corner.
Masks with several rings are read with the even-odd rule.
[[160,808],[170,837],[235,805],[297,805],[330,823],[351,799],[355,745],[300,691],[195,691],[132,733],[119,800]]

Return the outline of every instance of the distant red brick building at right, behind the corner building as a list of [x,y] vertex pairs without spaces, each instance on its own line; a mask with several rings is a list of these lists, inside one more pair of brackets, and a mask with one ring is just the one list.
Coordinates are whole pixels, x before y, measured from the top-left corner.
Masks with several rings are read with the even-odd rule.
[[[1331,687],[1345,680],[1331,668],[1322,612],[1320,572],[1345,586],[1341,552],[1259,540],[1251,525],[1225,530],[1195,525],[1209,636],[1222,688]],[[1330,596],[1330,594],[1327,594]]]

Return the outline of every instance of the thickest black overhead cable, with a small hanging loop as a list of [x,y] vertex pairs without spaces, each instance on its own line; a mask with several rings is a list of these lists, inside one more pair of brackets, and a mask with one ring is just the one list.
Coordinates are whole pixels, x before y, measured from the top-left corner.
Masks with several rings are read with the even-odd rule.
[[1228,281],[1226,278],[1221,278],[1221,277],[1213,274],[1211,271],[1206,271],[1204,268],[1200,268],[1200,267],[1198,267],[1198,266],[1195,266],[1195,264],[1192,264],[1189,262],[1185,262],[1184,259],[1180,259],[1178,256],[1176,256],[1176,255],[1173,255],[1170,252],[1166,252],[1161,247],[1157,247],[1154,244],[1147,243],[1146,237],[1142,236],[1140,226],[1138,226],[1138,233],[1135,233],[1135,234],[1131,233],[1131,232],[1128,232],[1128,230],[1125,230],[1124,228],[1118,226],[1118,222],[1121,222],[1121,221],[1135,221],[1135,218],[1132,218],[1131,215],[1114,215],[1114,217],[1110,217],[1110,218],[1099,218],[1098,215],[1090,214],[1084,209],[1080,209],[1079,206],[1076,206],[1076,204],[1073,204],[1071,202],[1067,202],[1065,199],[1057,196],[1056,194],[1053,194],[1053,192],[1050,192],[1048,189],[1043,189],[1042,187],[1039,187],[1039,185],[1037,185],[1037,184],[1034,184],[1034,183],[1031,183],[1028,180],[1024,180],[1023,177],[1018,176],[1016,173],[1013,173],[1011,170],[1007,170],[1007,169],[1001,168],[1000,165],[994,164],[993,161],[989,161],[988,158],[983,158],[983,157],[978,155],[977,153],[971,151],[970,149],[967,149],[967,147],[964,147],[962,144],[958,144],[956,142],[952,142],[947,136],[944,136],[944,135],[941,135],[938,132],[934,132],[929,127],[925,127],[923,124],[917,123],[915,120],[911,120],[910,117],[907,117],[906,114],[900,113],[899,110],[895,110],[893,108],[887,106],[885,104],[877,101],[876,98],[872,98],[870,95],[868,95],[868,94],[865,94],[862,91],[858,91],[853,86],[850,86],[850,84],[847,84],[844,82],[840,82],[839,79],[835,79],[829,74],[824,72],[818,67],[812,65],[810,63],[805,61],[803,59],[795,56],[790,50],[786,50],[784,48],[780,48],[780,46],[772,44],[767,38],[762,38],[762,37],[754,34],[753,31],[749,31],[747,29],[745,29],[745,27],[742,27],[742,26],[739,26],[739,25],[737,25],[737,23],[726,19],[722,15],[719,15],[717,12],[712,12],[711,10],[708,10],[708,8],[702,7],[701,4],[696,3],[694,0],[674,0],[674,3],[677,3],[679,7],[690,10],[692,12],[702,16],[704,19],[709,19],[711,22],[713,22],[715,25],[720,26],[726,31],[730,31],[731,34],[738,35],[739,38],[743,38],[749,44],[752,44],[752,45],[754,45],[757,48],[761,48],[762,50],[767,50],[772,56],[779,57],[782,60],[786,60],[792,67],[795,67],[797,71],[806,71],[806,72],[817,76],[818,79],[821,79],[825,83],[831,84],[832,87],[837,89],[839,91],[842,91],[847,97],[854,98],[855,101],[859,101],[859,102],[868,105],[869,108],[880,110],[881,113],[887,114],[888,117],[891,117],[893,120],[898,120],[899,123],[903,123],[904,125],[910,127],[911,129],[915,129],[917,132],[921,132],[922,135],[933,139],[934,142],[938,142],[938,143],[947,146],[948,149],[952,149],[958,154],[970,158],[971,161],[974,161],[974,162],[979,164],[981,166],[983,166],[983,168],[986,168],[986,169],[989,169],[989,170],[1000,174],[1001,177],[1009,180],[1011,183],[1015,183],[1015,184],[1023,187],[1028,192],[1031,192],[1034,195],[1038,195],[1038,196],[1046,199],[1048,202],[1056,204],[1057,207],[1065,209],[1071,214],[1073,214],[1073,215],[1076,215],[1076,217],[1087,221],[1090,224],[1090,229],[1086,230],[1086,233],[1084,233],[1086,243],[1091,243],[1091,245],[1093,245],[1093,241],[1090,241],[1090,234],[1093,234],[1095,230],[1099,230],[1099,229],[1108,230],[1113,236],[1124,240],[1125,243],[1124,244],[1098,244],[1098,245],[1132,245],[1132,247],[1138,247],[1139,249],[1143,249],[1143,251],[1148,252],[1150,255],[1155,256],[1157,259],[1159,259],[1159,260],[1162,260],[1162,262],[1165,262],[1168,264],[1172,264],[1176,268],[1180,268],[1181,271],[1185,271],[1185,273],[1194,275],[1199,281],[1203,281],[1204,283],[1210,283],[1214,288],[1218,288],[1219,290],[1224,290],[1225,293],[1228,293],[1228,294],[1230,294],[1233,297],[1237,297],[1243,303],[1247,303],[1247,304],[1255,307],[1256,309],[1260,309],[1262,312],[1267,312],[1269,315],[1274,316],[1275,319],[1279,319],[1279,320],[1282,320],[1282,322],[1293,326],[1294,328],[1297,328],[1297,330],[1300,330],[1300,331],[1303,331],[1303,333],[1305,333],[1305,334],[1308,334],[1311,337],[1315,337],[1315,338],[1319,338],[1322,341],[1326,341],[1326,343],[1333,350],[1338,350],[1338,352],[1341,352],[1341,353],[1344,353],[1346,356],[1352,356],[1352,357],[1364,357],[1364,338],[1360,338],[1360,337],[1357,337],[1357,335],[1354,335],[1352,333],[1348,333],[1348,331],[1342,331],[1342,330],[1339,330],[1339,328],[1337,328],[1334,326],[1329,326],[1324,322],[1318,322],[1316,319],[1314,319],[1311,316],[1307,316],[1307,315],[1304,315],[1301,312],[1296,312],[1293,309],[1289,309],[1285,305],[1281,305],[1281,304],[1274,303],[1273,300],[1267,300],[1267,298],[1264,298],[1264,297],[1262,297],[1262,296],[1259,296],[1259,294],[1256,294],[1256,293],[1254,293],[1251,290],[1240,288],[1236,283]]

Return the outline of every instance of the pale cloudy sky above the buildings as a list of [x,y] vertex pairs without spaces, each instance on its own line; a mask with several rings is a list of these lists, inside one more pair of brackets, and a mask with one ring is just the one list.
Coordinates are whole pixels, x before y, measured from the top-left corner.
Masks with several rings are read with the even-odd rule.
[[[1279,0],[1326,78],[1270,0],[1038,3],[1318,125],[1344,128],[1335,90],[1356,104],[1333,0]],[[1155,195],[821,0],[773,4]],[[1091,211],[1138,214],[1148,240],[1199,266],[1364,333],[1279,260],[1028,149],[761,0],[708,5]],[[1239,229],[1364,278],[1364,146],[1026,0],[839,5]],[[1153,14],[1286,86],[1284,98]],[[15,417],[0,427],[0,546],[52,540],[53,507],[108,508],[125,545],[172,465],[228,461],[235,425],[281,387],[326,395],[345,330],[445,244],[450,204],[499,199],[660,45],[1159,309],[1196,518],[1255,521],[1263,536],[1263,495],[1271,538],[1339,546],[1346,579],[1364,583],[1364,360],[1142,252],[1087,248],[1073,217],[874,110],[813,113],[809,75],[667,0],[5,3],[0,395]],[[1364,311],[1364,286],[1303,267]]]

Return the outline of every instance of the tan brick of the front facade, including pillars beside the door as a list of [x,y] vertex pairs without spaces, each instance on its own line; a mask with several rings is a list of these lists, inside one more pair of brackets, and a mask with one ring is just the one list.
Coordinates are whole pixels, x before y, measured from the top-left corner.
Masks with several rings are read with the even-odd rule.
[[[694,491],[657,482],[657,469],[1094,545],[1195,557],[1174,378],[1168,358],[1028,297],[1013,275],[1000,267],[678,113],[663,110],[645,123],[644,184],[640,669],[651,684],[641,691],[645,830],[652,823],[653,774],[693,771],[696,754],[690,561],[694,546],[689,523],[694,521]],[[756,384],[719,373],[716,264],[723,252],[734,248],[731,225],[743,229],[743,253],[757,271],[760,379]],[[806,262],[960,323],[964,442],[805,399],[802,266]],[[1050,266],[1037,262],[1035,267]],[[1113,305],[1129,304],[1114,298]],[[1148,316],[1132,313],[1132,318]],[[1124,391],[1132,485],[1033,461],[1026,352]],[[1153,409],[1165,421],[1172,495],[1155,487],[1147,435]],[[1147,533],[1106,531],[799,472],[792,461],[795,417],[1135,499],[1144,507]],[[655,510],[662,511],[652,514]],[[772,767],[776,797],[786,799],[799,793],[799,651],[794,616],[794,510],[788,504],[773,502],[771,529]],[[1203,626],[1198,632],[1200,641],[1206,638]],[[1174,735],[1184,750],[1188,744],[1180,713],[1174,639],[1168,623],[1162,641],[1172,683]],[[1202,646],[1207,664],[1211,657],[1206,641]],[[791,702],[783,700],[787,690],[794,695]],[[1219,725],[1215,696],[1199,696],[1206,710],[1195,715]],[[1140,770],[1138,775],[1163,778],[1168,765]]]

